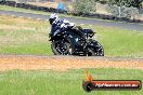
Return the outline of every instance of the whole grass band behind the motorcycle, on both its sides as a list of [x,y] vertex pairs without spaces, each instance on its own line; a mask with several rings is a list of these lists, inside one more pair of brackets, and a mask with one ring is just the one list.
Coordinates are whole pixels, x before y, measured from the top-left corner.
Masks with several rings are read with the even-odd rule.
[[[0,54],[52,55],[48,22],[0,16]],[[143,57],[143,33],[100,26],[82,26],[96,31],[105,56]]]

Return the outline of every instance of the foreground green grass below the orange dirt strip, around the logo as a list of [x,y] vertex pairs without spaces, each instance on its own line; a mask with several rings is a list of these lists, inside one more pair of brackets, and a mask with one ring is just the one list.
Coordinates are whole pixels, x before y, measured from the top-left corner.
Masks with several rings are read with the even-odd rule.
[[[0,73],[0,95],[142,95],[141,91],[93,91],[82,90],[84,70],[22,71]],[[136,69],[91,69],[95,80],[141,80],[143,70]],[[112,74],[110,74],[112,73]]]

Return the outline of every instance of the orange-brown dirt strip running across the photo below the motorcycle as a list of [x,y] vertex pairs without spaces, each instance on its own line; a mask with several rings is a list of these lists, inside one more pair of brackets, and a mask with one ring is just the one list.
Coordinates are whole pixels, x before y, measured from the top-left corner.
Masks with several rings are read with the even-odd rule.
[[67,70],[80,68],[133,68],[143,70],[143,59],[74,57],[74,56],[0,56],[0,71],[22,70]]

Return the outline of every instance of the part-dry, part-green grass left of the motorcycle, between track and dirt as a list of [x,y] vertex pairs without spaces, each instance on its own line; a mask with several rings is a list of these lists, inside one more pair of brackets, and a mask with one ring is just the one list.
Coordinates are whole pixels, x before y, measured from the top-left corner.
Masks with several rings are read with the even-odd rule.
[[48,22],[1,16],[0,54],[52,54]]

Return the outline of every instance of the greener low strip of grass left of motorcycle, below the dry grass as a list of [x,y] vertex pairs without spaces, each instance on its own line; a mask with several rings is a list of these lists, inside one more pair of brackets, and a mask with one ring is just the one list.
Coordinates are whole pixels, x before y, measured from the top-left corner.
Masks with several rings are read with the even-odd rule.
[[1,54],[52,55],[51,45],[47,43],[24,44],[21,46],[3,46]]

